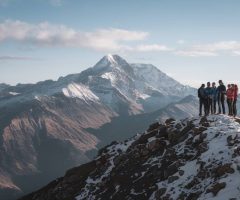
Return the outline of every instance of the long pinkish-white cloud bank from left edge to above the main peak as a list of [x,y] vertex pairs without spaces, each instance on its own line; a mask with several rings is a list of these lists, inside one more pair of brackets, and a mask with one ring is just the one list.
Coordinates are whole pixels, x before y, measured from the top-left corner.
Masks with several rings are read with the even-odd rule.
[[48,22],[29,24],[22,21],[6,20],[0,23],[0,42],[12,40],[37,46],[78,47],[108,52],[170,50],[159,44],[126,45],[127,42],[145,40],[148,35],[148,32],[115,28],[83,32]]

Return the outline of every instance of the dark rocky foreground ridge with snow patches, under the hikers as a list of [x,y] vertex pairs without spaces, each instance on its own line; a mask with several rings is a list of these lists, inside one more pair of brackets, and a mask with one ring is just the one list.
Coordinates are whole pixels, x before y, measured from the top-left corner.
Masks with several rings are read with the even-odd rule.
[[238,119],[168,119],[21,200],[238,199]]

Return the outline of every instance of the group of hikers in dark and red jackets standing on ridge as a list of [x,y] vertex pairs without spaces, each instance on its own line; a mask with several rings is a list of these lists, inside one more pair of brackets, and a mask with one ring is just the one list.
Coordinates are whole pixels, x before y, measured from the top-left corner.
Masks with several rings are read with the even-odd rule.
[[209,114],[226,114],[225,99],[227,97],[228,115],[236,117],[238,86],[236,84],[228,84],[226,88],[222,80],[219,80],[218,83],[218,87],[215,82],[208,82],[207,87],[205,87],[205,84],[202,84],[198,89],[199,116],[202,116],[203,108],[205,116]]

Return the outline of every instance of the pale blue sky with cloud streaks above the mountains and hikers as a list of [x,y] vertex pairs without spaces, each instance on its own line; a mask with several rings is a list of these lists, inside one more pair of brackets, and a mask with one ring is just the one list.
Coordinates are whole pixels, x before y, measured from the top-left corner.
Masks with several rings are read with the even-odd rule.
[[78,73],[105,54],[198,86],[240,74],[238,0],[0,0],[0,82]]

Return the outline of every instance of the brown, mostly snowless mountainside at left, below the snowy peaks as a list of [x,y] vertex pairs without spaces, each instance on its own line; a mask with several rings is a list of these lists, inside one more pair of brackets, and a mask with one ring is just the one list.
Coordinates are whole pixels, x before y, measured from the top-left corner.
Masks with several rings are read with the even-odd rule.
[[[39,97],[1,112],[0,166],[5,175],[1,194],[9,187],[30,192],[67,168],[89,161],[87,152],[96,151],[99,139],[86,128],[99,128],[116,115],[99,102],[63,95]],[[30,177],[37,181],[30,182]]]

